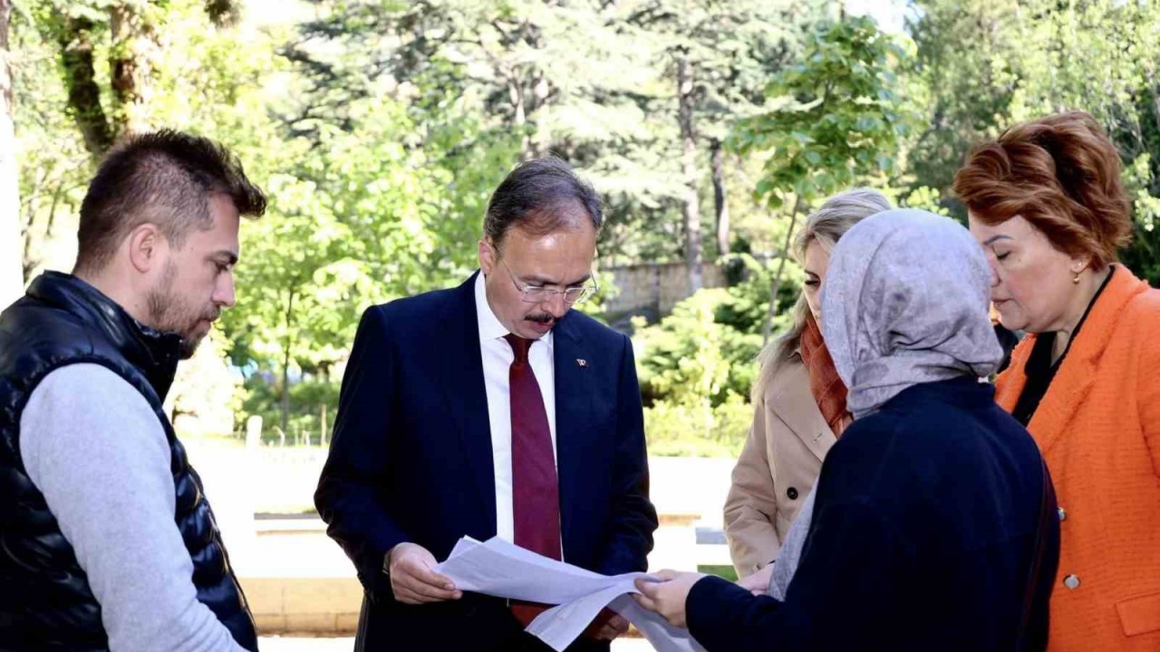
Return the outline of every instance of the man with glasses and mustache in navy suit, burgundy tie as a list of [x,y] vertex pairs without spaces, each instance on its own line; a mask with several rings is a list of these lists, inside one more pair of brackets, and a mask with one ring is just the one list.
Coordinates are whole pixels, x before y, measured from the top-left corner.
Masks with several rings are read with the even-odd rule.
[[[370,307],[314,500],[365,588],[357,650],[544,650],[542,607],[463,593],[432,568],[501,536],[606,574],[643,571],[648,501],[629,339],[571,311],[595,291],[593,189],[557,159],[492,195],[462,285]],[[608,650],[608,614],[570,650]]]

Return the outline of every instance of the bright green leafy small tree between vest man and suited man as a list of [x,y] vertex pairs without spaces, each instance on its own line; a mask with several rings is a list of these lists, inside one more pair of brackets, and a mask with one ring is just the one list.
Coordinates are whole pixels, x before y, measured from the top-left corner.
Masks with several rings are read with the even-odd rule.
[[273,174],[270,215],[246,225],[239,305],[223,323],[235,364],[281,374],[283,429],[290,375],[329,378],[368,305],[466,269],[469,249],[445,251],[441,171],[399,143],[408,121],[398,106],[367,110],[379,118],[374,129],[328,135],[321,152],[288,152],[285,169],[298,174]]

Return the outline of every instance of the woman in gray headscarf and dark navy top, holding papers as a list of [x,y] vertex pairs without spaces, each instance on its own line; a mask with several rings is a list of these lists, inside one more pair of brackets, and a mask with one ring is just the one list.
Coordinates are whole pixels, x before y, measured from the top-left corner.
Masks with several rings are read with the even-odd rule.
[[1038,449],[979,382],[1002,357],[983,253],[954,220],[892,210],[829,265],[822,332],[855,421],[784,600],[664,571],[638,601],[709,652],[1042,650],[1059,523]]

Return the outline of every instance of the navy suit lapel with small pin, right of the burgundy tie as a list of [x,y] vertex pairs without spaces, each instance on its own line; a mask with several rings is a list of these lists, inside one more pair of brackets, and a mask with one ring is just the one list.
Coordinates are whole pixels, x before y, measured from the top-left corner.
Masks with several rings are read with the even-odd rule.
[[[553,375],[556,385],[556,469],[560,488],[560,537],[567,558],[572,524],[578,521],[577,509],[585,473],[592,468],[595,436],[589,423],[593,414],[592,356],[587,355],[585,340],[575,328],[577,320],[565,317],[553,329]],[[582,361],[582,362],[581,362]],[[607,377],[610,370],[599,370]],[[565,463],[566,461],[566,463]]]

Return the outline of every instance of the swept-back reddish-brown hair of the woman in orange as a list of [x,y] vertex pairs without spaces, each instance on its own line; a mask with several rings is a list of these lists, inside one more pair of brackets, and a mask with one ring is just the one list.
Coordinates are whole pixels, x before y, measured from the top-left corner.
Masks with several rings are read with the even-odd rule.
[[1132,237],[1119,154],[1085,111],[1012,126],[977,146],[955,174],[955,193],[985,224],[1021,216],[1059,251],[1102,268]]

